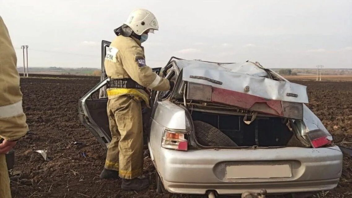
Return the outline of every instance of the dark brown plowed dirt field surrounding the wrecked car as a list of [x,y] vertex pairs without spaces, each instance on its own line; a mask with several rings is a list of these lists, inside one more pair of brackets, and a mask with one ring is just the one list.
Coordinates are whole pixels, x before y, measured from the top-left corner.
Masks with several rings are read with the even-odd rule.
[[[154,168],[145,158],[144,176],[148,190],[126,192],[120,180],[101,180],[105,151],[78,120],[78,99],[98,78],[76,76],[21,78],[24,111],[31,133],[15,147],[15,170],[24,172],[30,183],[12,182],[13,198],[189,198],[205,197],[156,194]],[[295,81],[308,87],[308,105],[334,135],[335,142],[352,147],[352,82]],[[84,145],[74,145],[75,141]],[[44,161],[36,150],[46,150]],[[322,173],[323,174],[323,173]],[[318,197],[316,194],[313,197]],[[344,157],[344,171],[337,189],[319,197],[352,197],[352,160]]]

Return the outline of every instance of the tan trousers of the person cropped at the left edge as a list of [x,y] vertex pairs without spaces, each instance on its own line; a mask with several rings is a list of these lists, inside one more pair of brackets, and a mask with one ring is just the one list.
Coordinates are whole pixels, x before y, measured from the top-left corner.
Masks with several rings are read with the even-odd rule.
[[5,154],[0,154],[0,197],[11,198]]

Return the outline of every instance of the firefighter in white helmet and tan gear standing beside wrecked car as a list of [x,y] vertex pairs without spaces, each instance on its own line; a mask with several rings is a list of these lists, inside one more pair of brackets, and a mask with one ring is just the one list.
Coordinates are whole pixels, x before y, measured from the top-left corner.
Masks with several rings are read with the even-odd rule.
[[159,77],[146,65],[141,43],[158,30],[154,14],[146,9],[131,12],[115,29],[117,35],[107,49],[105,70],[111,78],[107,89],[107,114],[112,135],[102,179],[122,179],[124,190],[142,190],[149,179],[138,178],[143,171],[142,106],[149,107],[148,89],[168,91],[173,82]]

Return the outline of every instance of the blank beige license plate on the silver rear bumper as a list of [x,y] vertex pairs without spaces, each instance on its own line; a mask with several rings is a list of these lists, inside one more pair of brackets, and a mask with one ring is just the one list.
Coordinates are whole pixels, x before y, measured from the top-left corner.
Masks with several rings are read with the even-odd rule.
[[226,166],[227,179],[292,177],[290,165],[231,165]]

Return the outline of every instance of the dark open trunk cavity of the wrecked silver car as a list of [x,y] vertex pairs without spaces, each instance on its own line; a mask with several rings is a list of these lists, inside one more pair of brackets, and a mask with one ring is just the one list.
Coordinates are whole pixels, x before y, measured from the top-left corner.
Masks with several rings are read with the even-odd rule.
[[[247,124],[244,122],[245,115],[229,115],[223,113],[210,113],[206,110],[190,111],[191,118],[195,123],[195,133],[197,142],[202,146],[223,146],[223,140],[216,140],[222,134],[225,134],[230,138],[237,146],[258,146],[258,147],[282,147],[292,146],[292,142],[296,142],[295,146],[301,146],[296,140],[294,132],[289,129],[288,119],[275,116],[263,116],[258,115],[255,119]],[[246,118],[251,120],[251,117]],[[201,141],[199,137],[199,129],[197,124],[201,122],[207,123],[216,129],[219,129],[221,133],[213,133],[212,130],[205,131],[206,140]],[[210,127],[211,127],[210,126]],[[225,137],[226,138],[226,137]],[[214,141],[215,140],[215,143]],[[212,145],[204,145],[207,142],[212,141]],[[218,143],[216,143],[218,141]],[[202,143],[200,143],[202,142]]]

